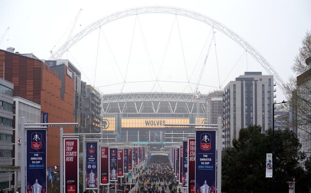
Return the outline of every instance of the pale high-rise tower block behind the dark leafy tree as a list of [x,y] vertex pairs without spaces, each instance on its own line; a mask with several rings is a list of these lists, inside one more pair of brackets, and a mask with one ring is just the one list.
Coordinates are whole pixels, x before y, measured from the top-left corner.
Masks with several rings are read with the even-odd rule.
[[260,125],[262,132],[272,128],[273,76],[245,72],[225,86],[223,125],[225,147],[249,125]]

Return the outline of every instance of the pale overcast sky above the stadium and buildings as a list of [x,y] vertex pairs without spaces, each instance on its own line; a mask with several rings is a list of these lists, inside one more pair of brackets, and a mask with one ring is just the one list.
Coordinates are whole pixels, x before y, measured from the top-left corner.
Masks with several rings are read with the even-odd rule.
[[[151,5],[189,9],[222,23],[257,49],[285,82],[294,76],[290,69],[294,56],[305,33],[311,30],[310,0],[1,0],[0,37],[10,29],[0,42],[0,49],[14,47],[20,53],[49,59],[50,51],[65,43],[80,8],[83,11],[71,36],[104,16]],[[192,92],[195,84],[190,87],[178,83],[181,89],[174,90],[177,86],[173,81],[198,81],[210,29],[207,24],[184,16],[132,16],[88,34],[63,58],[77,66],[82,80],[103,93],[120,92],[122,84],[107,85],[124,79],[151,82],[127,84],[122,92]],[[215,41],[200,80],[200,84],[212,86],[200,86],[201,93],[219,85],[224,87],[246,70],[268,74],[222,32],[216,31]],[[164,82],[155,84],[156,79]],[[284,99],[279,89],[276,94],[277,101]]]

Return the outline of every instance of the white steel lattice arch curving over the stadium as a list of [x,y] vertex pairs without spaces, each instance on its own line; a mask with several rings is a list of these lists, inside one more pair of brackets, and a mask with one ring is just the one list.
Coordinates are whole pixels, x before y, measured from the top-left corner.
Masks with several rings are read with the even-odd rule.
[[59,59],[63,56],[63,54],[75,45],[78,41],[80,41],[83,37],[85,37],[90,32],[95,31],[99,27],[115,21],[117,19],[121,19],[128,16],[136,16],[139,14],[173,14],[178,16],[186,16],[192,19],[196,19],[207,25],[219,30],[220,32],[224,33],[226,36],[231,38],[237,44],[239,44],[242,48],[244,48],[259,64],[267,71],[268,74],[273,75],[275,78],[276,83],[278,84],[279,88],[281,89],[282,93],[285,94],[284,90],[284,81],[280,78],[277,74],[274,67],[269,64],[269,62],[257,51],[254,47],[252,47],[246,40],[244,40],[240,35],[230,30],[228,27],[223,25],[222,23],[200,14],[198,12],[194,12],[188,9],[182,9],[178,7],[168,7],[168,6],[146,6],[146,7],[136,7],[131,9],[126,9],[120,12],[116,12],[110,14],[108,16],[104,16],[103,18],[89,24],[83,30],[76,33],[72,38],[70,38],[64,45],[58,48],[56,51],[52,52],[52,57],[50,59]]

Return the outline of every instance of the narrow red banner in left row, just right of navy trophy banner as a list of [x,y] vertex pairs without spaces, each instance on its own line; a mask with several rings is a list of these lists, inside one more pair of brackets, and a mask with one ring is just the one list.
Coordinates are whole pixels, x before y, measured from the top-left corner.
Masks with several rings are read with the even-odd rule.
[[100,146],[101,152],[101,185],[109,184],[109,147]]

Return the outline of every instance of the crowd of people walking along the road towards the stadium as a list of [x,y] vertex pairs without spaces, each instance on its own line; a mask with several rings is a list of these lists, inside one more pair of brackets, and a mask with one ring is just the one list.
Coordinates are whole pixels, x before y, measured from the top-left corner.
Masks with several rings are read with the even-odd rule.
[[167,164],[150,163],[147,168],[138,168],[135,176],[139,184],[135,193],[181,193],[173,169]]

